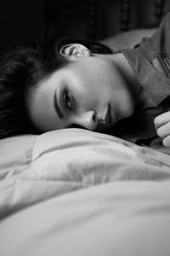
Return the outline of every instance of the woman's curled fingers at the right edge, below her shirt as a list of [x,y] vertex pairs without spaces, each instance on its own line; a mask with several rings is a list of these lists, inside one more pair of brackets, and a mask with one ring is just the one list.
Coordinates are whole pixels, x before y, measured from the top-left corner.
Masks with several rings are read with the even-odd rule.
[[170,147],[170,111],[161,113],[154,119],[156,132],[165,147]]

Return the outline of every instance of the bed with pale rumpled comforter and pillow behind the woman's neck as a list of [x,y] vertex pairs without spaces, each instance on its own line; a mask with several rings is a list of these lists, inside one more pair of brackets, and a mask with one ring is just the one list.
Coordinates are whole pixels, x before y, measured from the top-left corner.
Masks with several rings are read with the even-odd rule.
[[2,139],[0,255],[169,256],[169,151],[76,128]]

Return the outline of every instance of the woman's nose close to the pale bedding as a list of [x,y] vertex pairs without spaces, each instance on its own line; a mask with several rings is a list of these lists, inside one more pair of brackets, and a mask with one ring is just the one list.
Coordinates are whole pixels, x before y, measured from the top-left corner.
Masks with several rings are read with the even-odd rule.
[[81,125],[84,128],[94,131],[98,125],[96,112],[94,110],[81,113],[77,116],[77,125]]

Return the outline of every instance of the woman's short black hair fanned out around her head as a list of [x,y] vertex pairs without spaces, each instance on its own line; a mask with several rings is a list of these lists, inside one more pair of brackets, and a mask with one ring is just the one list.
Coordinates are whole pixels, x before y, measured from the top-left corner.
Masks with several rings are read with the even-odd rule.
[[53,32],[43,34],[35,47],[18,47],[0,55],[0,138],[41,133],[31,122],[29,99],[39,81],[68,63],[59,49],[71,43],[84,44],[92,53],[112,53],[104,44],[59,39]]

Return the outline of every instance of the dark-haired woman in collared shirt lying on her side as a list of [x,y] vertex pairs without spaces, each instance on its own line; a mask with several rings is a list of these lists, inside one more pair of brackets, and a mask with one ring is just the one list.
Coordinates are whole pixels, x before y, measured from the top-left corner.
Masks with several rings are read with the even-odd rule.
[[170,15],[151,38],[113,54],[48,40],[0,62],[0,136],[81,127],[170,146]]

